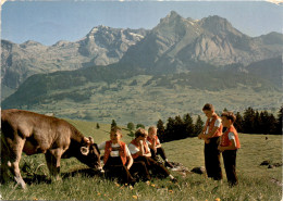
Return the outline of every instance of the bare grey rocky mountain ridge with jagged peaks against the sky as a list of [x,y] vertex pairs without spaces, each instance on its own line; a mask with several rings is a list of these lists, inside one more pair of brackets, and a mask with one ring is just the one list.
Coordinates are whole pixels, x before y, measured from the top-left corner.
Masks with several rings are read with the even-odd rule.
[[15,90],[34,74],[113,63],[156,74],[189,72],[202,64],[248,66],[281,55],[283,35],[253,38],[218,15],[196,21],[172,11],[151,30],[100,25],[75,42],[61,40],[48,47],[32,40],[22,45],[2,40],[1,48],[2,88]]

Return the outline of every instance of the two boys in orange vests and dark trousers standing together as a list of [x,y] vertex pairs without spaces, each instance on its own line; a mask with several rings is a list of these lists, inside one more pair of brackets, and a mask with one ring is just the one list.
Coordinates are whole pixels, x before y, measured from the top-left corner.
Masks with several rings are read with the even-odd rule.
[[237,130],[234,127],[236,116],[233,112],[223,112],[221,117],[214,112],[212,104],[202,108],[207,116],[206,125],[198,135],[205,140],[205,166],[208,177],[222,179],[220,153],[222,153],[226,178],[230,186],[237,185],[236,152],[241,148]]

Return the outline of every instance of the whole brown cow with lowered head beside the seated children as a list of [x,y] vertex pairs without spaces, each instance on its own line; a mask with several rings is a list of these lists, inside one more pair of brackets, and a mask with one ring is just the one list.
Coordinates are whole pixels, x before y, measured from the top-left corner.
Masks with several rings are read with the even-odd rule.
[[59,179],[60,160],[75,156],[91,168],[99,168],[100,154],[91,137],[86,138],[70,123],[23,110],[3,110],[1,114],[1,181],[8,168],[25,188],[19,163],[22,152],[45,153],[51,177]]

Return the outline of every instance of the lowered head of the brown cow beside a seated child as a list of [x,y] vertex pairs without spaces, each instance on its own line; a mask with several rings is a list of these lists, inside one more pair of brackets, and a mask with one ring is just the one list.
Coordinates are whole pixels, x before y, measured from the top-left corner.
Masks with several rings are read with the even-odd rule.
[[84,137],[78,160],[91,168],[102,169],[100,165],[100,152],[97,145],[94,142],[94,138]]

